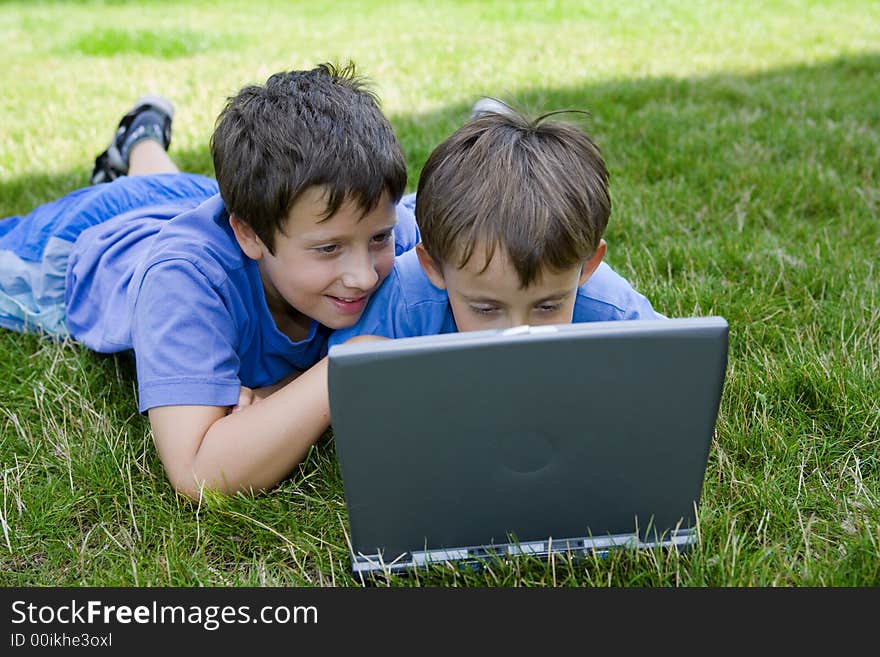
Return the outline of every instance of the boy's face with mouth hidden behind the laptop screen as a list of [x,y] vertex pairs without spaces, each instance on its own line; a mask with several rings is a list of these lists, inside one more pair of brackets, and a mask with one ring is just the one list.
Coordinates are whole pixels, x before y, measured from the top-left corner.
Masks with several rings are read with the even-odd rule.
[[438,266],[419,245],[419,260],[431,282],[445,288],[459,331],[504,329],[529,324],[567,324],[574,314],[577,289],[583,285],[605,254],[604,241],[596,255],[582,266],[563,271],[545,269],[527,288],[503,249],[495,249],[485,267],[480,245],[462,268]]

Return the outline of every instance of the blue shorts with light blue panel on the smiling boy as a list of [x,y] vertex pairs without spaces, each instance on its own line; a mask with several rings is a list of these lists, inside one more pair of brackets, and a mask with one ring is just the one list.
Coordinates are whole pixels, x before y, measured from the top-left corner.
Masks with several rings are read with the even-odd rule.
[[148,216],[151,207],[184,212],[217,193],[215,180],[197,174],[123,176],[0,220],[0,326],[66,337],[67,262],[83,230],[126,212]]

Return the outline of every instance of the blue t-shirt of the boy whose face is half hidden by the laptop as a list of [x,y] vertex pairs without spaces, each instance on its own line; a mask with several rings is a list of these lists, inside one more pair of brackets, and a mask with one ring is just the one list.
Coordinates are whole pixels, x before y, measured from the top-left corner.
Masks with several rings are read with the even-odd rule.
[[[604,262],[578,288],[573,322],[660,319],[643,295]],[[434,287],[415,250],[395,258],[391,274],[373,295],[357,324],[339,329],[330,346],[356,335],[407,338],[458,330],[446,290]]]

